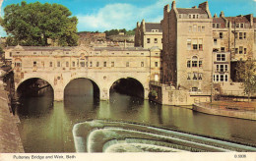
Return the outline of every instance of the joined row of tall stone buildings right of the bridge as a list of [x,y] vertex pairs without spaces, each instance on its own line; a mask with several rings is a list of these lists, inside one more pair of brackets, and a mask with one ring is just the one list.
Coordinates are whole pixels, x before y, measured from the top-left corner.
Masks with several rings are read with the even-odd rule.
[[239,61],[255,59],[253,15],[212,17],[208,2],[163,9],[162,83],[189,91],[211,90],[212,82],[236,80]]

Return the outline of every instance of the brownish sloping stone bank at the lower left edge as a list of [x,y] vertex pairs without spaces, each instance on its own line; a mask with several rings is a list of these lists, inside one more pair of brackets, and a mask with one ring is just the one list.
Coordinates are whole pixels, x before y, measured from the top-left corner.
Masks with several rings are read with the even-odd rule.
[[0,80],[0,152],[25,152],[17,127],[19,119],[11,113],[8,103],[7,91]]

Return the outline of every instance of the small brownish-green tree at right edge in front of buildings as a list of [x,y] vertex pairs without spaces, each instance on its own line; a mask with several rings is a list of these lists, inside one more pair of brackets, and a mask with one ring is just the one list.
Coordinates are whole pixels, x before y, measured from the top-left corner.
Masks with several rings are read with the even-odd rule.
[[243,91],[249,100],[251,95],[256,92],[256,65],[254,61],[238,62],[236,72],[237,80],[242,82]]

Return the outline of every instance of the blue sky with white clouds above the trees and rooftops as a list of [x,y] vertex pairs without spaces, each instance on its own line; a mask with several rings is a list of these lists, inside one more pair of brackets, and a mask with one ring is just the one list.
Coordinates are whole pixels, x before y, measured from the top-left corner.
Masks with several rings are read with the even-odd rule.
[[[1,16],[4,8],[22,0],[0,0]],[[24,0],[27,3],[58,3],[66,6],[79,20],[78,31],[104,31],[112,28],[133,29],[137,22],[160,23],[163,7],[172,0]],[[191,8],[206,0],[176,0],[177,8]],[[256,0],[208,0],[212,16],[224,11],[225,17],[253,14],[256,17]],[[3,28],[0,35],[5,36]]]

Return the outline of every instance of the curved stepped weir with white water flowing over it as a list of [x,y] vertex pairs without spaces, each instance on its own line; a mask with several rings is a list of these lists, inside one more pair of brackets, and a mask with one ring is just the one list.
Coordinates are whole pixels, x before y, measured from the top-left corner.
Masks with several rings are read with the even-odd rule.
[[123,122],[95,120],[76,124],[77,152],[224,152],[256,151],[256,147]]

